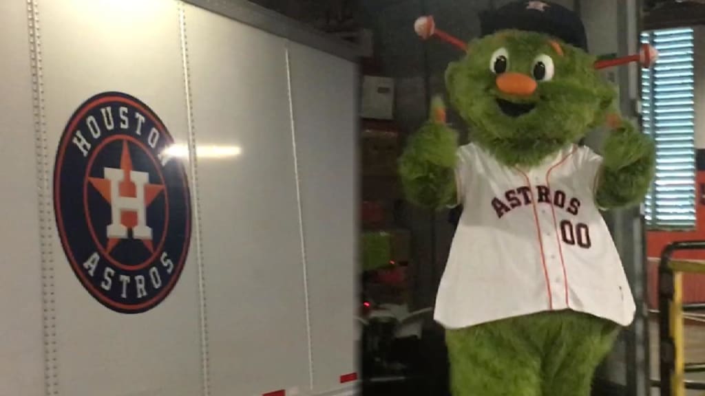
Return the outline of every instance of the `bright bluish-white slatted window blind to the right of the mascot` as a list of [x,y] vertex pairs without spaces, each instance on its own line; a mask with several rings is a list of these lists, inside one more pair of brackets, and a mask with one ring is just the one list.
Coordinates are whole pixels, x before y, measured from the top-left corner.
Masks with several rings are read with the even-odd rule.
[[649,228],[695,225],[694,40],[692,28],[643,32],[658,61],[642,69],[644,133],[656,140],[656,178],[644,206]]

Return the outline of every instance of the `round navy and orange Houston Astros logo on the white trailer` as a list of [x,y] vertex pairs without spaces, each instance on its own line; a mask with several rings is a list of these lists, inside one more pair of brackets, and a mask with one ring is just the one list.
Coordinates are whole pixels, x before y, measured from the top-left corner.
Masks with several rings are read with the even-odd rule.
[[157,114],[104,92],[68,120],[54,168],[61,245],[80,283],[125,314],[157,306],[188,254],[191,206],[183,161]]

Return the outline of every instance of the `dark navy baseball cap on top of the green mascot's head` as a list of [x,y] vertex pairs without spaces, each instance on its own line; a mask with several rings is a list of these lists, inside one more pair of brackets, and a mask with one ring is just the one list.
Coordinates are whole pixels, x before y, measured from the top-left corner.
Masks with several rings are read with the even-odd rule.
[[480,15],[480,35],[516,29],[550,35],[587,51],[587,35],[577,13],[550,1],[512,1]]

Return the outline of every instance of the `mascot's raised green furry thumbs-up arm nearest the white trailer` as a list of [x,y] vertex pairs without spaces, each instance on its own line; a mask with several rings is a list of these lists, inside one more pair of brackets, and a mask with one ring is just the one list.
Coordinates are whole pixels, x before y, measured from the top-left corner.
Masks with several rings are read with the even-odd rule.
[[407,198],[413,204],[441,209],[455,202],[458,132],[446,124],[440,98],[431,104],[431,118],[407,142],[399,160]]

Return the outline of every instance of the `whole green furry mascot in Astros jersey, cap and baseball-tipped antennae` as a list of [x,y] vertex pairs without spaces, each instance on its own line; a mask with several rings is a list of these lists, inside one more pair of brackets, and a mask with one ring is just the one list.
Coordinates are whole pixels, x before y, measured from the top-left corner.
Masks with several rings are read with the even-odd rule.
[[[469,44],[419,18],[422,37],[465,51],[446,70],[450,102],[470,125],[458,146],[434,101],[407,142],[407,199],[462,216],[436,297],[455,396],[587,396],[596,366],[635,314],[600,210],[638,204],[654,142],[613,113],[597,71],[655,51],[596,62],[580,18],[545,1],[515,1],[482,18]],[[577,144],[600,125],[598,155]]]

